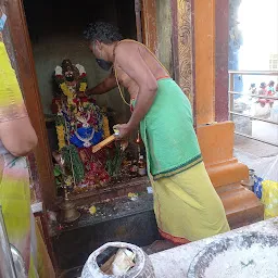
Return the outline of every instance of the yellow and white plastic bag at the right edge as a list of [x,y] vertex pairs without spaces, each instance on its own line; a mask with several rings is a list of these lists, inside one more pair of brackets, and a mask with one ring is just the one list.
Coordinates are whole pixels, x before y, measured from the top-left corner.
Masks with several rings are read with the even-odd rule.
[[268,219],[278,216],[278,155],[263,179],[264,219]]

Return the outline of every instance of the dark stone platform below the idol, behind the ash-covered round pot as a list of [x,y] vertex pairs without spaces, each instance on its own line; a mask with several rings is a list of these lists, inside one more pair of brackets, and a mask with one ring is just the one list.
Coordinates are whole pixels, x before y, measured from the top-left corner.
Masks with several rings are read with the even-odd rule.
[[149,247],[160,240],[152,194],[118,198],[96,207],[93,215],[83,213],[73,224],[52,226],[50,236],[59,269],[83,266],[92,251],[109,241]]

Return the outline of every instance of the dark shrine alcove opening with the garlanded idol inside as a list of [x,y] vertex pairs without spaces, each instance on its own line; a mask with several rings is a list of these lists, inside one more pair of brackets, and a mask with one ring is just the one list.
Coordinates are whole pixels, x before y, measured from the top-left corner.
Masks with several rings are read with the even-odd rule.
[[[124,38],[137,39],[135,1],[85,1],[78,7],[73,0],[24,0],[23,3],[58,195],[63,195],[63,184],[67,184],[73,200],[91,195],[98,195],[99,200],[103,190],[108,193],[110,189],[116,197],[116,188],[123,192],[123,186],[130,181],[137,187],[143,184],[146,189],[147,177],[138,174],[136,165],[139,154],[144,154],[137,132],[124,153],[118,143],[96,154],[91,152],[93,144],[113,132],[114,124],[126,123],[130,116],[118,89],[98,96],[92,102],[70,97],[98,85],[109,75],[97,65],[83,37],[87,25],[110,22]],[[124,94],[129,101],[128,93]],[[103,199],[108,198],[106,193]]]

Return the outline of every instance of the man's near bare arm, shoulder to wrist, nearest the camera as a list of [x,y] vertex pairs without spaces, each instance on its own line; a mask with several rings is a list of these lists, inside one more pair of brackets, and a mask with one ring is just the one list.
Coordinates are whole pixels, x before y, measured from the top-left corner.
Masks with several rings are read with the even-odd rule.
[[150,110],[156,96],[157,83],[143,61],[138,46],[132,42],[118,46],[116,63],[139,86],[136,108],[127,124],[127,131],[130,132],[139,126],[140,121]]

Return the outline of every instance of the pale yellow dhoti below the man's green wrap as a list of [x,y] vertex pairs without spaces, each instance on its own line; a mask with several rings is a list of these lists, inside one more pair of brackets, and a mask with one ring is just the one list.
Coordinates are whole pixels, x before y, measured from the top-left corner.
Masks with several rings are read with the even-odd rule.
[[161,235],[182,244],[229,231],[223,203],[203,163],[152,181]]

